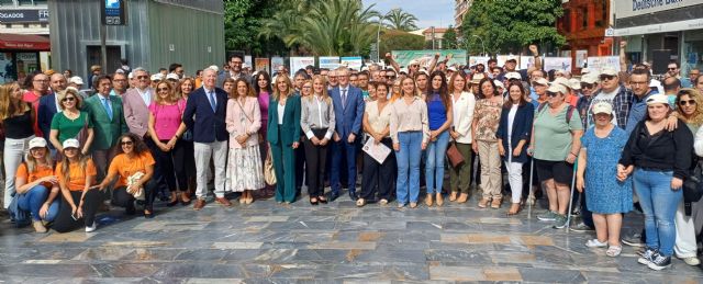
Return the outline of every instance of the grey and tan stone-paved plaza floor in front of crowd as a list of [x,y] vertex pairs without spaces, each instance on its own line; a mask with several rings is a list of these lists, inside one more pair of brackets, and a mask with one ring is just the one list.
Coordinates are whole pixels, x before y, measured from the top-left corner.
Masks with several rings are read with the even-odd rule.
[[[555,230],[506,208],[464,205],[416,209],[347,196],[324,206],[257,201],[159,207],[96,232],[34,234],[0,224],[5,283],[703,283],[700,268],[673,261],[661,272],[583,246],[589,234]],[[641,217],[628,215],[627,224]],[[104,223],[105,220],[103,220]],[[625,229],[626,230],[626,229]]]

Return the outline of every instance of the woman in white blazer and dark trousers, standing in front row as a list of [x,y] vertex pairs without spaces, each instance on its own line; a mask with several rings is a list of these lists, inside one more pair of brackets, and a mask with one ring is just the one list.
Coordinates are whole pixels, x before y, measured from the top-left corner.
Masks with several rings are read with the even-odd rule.
[[455,72],[449,79],[449,95],[454,111],[454,125],[449,135],[464,157],[461,164],[457,167],[449,164],[451,188],[449,201],[465,203],[469,197],[471,181],[471,124],[473,123],[476,98],[467,91],[466,75],[462,71]]

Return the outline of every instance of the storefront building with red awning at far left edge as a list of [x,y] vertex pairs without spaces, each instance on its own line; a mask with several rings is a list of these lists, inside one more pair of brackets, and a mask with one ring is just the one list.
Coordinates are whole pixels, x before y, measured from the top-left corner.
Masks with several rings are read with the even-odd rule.
[[0,83],[49,68],[46,0],[0,0]]

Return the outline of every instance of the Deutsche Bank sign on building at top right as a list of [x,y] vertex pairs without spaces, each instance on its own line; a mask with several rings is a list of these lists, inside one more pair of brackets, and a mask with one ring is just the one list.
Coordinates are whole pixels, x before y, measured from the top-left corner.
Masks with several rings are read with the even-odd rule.
[[616,19],[649,14],[666,10],[701,4],[700,0],[617,0],[612,1]]

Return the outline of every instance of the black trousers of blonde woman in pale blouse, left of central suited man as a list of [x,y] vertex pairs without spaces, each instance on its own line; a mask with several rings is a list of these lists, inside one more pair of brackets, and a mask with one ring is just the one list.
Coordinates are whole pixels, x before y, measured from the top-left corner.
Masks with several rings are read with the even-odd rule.
[[[312,129],[312,133],[317,139],[322,140],[327,129]],[[308,194],[310,197],[324,195],[325,163],[327,162],[327,150],[331,143],[325,146],[313,145],[306,137],[303,141],[305,146],[305,180],[308,181]]]

